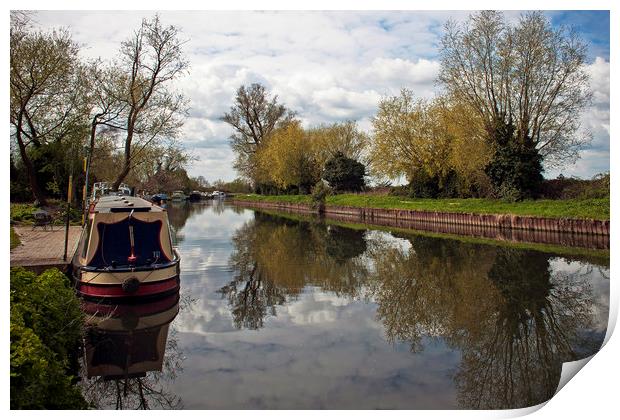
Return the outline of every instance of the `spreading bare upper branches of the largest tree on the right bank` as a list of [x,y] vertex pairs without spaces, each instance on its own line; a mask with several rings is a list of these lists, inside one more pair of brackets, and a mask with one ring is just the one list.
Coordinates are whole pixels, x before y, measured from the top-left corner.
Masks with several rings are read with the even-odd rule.
[[578,157],[589,141],[579,114],[591,93],[586,45],[542,12],[523,14],[513,27],[501,12],[482,11],[464,25],[449,22],[442,40],[439,81],[486,121],[513,125],[548,165]]

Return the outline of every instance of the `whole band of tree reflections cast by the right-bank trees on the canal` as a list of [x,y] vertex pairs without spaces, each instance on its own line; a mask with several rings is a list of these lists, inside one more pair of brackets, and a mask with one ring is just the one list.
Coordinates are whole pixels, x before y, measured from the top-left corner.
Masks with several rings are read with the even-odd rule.
[[561,364],[601,344],[584,333],[593,319],[588,277],[554,272],[552,254],[260,212],[233,244],[234,279],[220,292],[237,328],[262,328],[306,286],[364,297],[377,304],[388,341],[415,353],[429,339],[444,340],[460,352],[454,381],[462,407],[544,402]]

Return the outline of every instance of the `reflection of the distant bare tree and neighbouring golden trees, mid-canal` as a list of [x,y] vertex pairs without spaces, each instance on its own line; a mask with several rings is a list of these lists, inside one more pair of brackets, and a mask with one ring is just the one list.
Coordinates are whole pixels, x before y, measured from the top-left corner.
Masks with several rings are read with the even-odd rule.
[[363,232],[255,213],[232,238],[233,280],[220,289],[236,328],[259,329],[305,286],[354,296],[365,279]]

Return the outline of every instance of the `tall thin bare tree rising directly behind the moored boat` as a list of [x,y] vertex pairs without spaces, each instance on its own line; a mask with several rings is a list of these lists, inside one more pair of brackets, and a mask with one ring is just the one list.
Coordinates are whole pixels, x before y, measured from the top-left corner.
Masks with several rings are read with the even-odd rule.
[[152,143],[178,135],[187,114],[183,95],[172,91],[171,82],[189,67],[179,39],[179,30],[165,27],[159,16],[144,19],[133,36],[122,43],[124,67],[123,101],[126,119],[123,129],[123,165],[113,188],[129,174],[137,157]]

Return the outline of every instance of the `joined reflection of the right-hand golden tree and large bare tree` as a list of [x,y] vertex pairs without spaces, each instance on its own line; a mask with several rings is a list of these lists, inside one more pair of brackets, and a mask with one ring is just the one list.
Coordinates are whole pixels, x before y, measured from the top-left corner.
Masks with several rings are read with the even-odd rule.
[[[596,352],[592,291],[585,278],[552,274],[549,254],[411,237],[405,252],[375,244],[373,296],[390,340],[422,351],[442,337],[461,351],[454,376],[467,408],[542,403],[561,364]],[[577,354],[576,348],[583,349]]]

